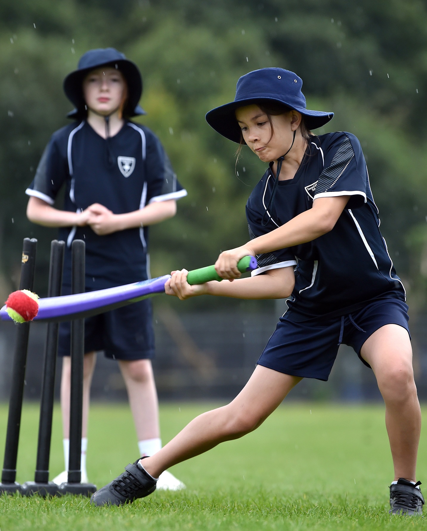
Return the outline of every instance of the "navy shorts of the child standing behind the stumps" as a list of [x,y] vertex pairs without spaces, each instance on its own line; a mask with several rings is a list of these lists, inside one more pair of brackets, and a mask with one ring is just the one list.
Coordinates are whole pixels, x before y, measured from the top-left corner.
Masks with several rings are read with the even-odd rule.
[[[62,294],[70,293],[63,286]],[[58,356],[70,356],[70,322],[59,324]],[[152,359],[155,353],[150,299],[84,320],[84,353],[104,350],[107,358]]]

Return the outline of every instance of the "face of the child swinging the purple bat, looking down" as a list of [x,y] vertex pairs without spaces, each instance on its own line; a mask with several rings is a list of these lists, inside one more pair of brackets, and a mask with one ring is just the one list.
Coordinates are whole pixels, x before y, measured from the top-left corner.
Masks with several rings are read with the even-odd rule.
[[268,116],[258,105],[248,105],[236,110],[237,122],[243,139],[263,162],[277,160],[291,147],[294,131],[301,123],[301,114],[296,110],[271,116],[274,132]]

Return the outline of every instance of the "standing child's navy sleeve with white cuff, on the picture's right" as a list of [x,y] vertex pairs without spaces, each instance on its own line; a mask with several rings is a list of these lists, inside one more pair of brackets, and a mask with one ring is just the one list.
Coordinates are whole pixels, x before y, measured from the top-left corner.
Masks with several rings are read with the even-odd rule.
[[147,203],[181,199],[187,191],[181,186],[159,139],[147,135]]

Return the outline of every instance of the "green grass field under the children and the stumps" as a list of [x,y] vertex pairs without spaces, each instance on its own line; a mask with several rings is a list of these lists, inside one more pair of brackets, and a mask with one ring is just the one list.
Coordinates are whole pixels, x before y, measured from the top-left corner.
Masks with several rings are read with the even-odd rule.
[[[212,405],[161,406],[163,440]],[[0,407],[1,458],[7,408]],[[23,411],[18,481],[33,479],[38,409]],[[63,469],[61,419],[55,410],[51,476]],[[91,408],[88,474],[102,486],[136,459],[126,405]],[[427,529],[421,518],[390,517],[392,467],[381,406],[317,403],[281,406],[254,433],[224,443],[172,472],[187,485],[155,492],[122,508],[92,508],[67,496],[0,498],[1,531],[147,529]],[[422,435],[419,477],[427,483]],[[427,492],[427,491],[426,491]]]

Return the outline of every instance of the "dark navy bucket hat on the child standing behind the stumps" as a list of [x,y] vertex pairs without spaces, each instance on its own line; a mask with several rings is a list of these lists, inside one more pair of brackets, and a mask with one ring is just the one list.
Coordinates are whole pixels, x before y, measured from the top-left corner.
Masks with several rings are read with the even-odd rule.
[[86,116],[86,102],[83,98],[82,83],[85,76],[95,68],[110,66],[119,70],[127,83],[127,100],[123,109],[126,117],[146,114],[138,105],[142,94],[142,78],[138,66],[115,48],[98,48],[89,50],[80,57],[77,70],[68,74],[64,79],[64,92],[66,97],[75,106],[75,109],[68,113],[69,118],[80,119]]

